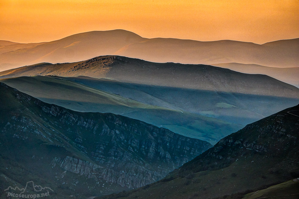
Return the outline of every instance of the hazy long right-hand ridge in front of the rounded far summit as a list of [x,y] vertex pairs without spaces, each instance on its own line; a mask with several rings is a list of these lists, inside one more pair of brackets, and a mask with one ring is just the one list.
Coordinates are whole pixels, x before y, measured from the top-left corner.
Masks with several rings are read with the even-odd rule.
[[[229,50],[228,50],[229,49]],[[123,47],[117,55],[153,62],[212,64],[236,62],[270,67],[298,67],[299,39],[254,44],[241,41],[193,41],[153,38]]]

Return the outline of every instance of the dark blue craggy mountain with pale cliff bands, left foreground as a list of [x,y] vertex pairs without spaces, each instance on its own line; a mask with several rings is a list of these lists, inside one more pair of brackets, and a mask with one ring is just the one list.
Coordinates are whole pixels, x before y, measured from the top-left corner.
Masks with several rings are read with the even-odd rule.
[[[75,191],[86,184],[86,191],[101,193],[137,188],[211,146],[120,115],[46,104],[3,83],[0,93],[2,157],[28,167],[34,176],[47,171],[43,178],[58,188],[68,184],[67,189]],[[5,175],[13,179],[11,172],[6,169]]]

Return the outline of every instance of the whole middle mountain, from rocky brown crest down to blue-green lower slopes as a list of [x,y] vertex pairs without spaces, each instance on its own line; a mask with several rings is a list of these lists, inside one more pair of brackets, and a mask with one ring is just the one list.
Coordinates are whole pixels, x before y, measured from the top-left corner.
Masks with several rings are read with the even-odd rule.
[[299,101],[298,88],[266,75],[121,56],[31,65],[0,75],[0,81],[47,103],[121,114],[212,144]]

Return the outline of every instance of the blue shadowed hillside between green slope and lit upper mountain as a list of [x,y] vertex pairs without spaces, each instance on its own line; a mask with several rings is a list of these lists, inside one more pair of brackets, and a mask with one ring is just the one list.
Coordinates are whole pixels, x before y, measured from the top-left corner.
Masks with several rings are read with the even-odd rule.
[[[134,99],[145,104],[200,114],[243,125],[257,121],[299,102],[299,93],[298,97],[295,98],[287,98],[286,96],[288,94],[284,97],[275,96],[274,93],[274,96],[268,96],[266,94],[267,86],[264,88],[258,87],[255,90],[250,90],[250,88],[246,86],[240,86],[238,88],[239,92],[242,92],[243,90],[246,90],[245,92],[250,92],[251,94],[249,95],[235,92],[216,92],[171,86],[132,84],[89,77],[66,79]],[[234,81],[237,82],[237,80]],[[267,81],[267,79],[265,79],[265,81]],[[281,82],[273,82],[275,87],[280,85],[280,83]],[[271,81],[269,84],[271,84]],[[298,92],[295,87],[293,88],[295,93]],[[277,87],[277,89],[279,88]],[[255,94],[255,92],[262,92],[262,90],[265,92],[265,95]],[[292,93],[291,96],[293,94],[294,93]]]

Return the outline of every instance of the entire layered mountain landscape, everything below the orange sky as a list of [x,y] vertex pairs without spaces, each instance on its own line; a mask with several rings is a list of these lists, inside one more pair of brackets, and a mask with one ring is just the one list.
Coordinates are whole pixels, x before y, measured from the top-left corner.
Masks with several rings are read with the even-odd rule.
[[0,199],[297,199],[298,61],[299,38],[0,40]]

